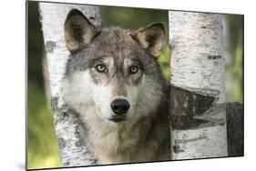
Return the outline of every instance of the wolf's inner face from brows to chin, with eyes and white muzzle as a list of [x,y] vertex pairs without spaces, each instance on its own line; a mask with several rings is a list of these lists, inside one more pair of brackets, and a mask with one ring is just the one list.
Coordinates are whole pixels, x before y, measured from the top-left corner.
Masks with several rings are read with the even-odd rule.
[[95,85],[92,96],[102,116],[114,121],[131,116],[143,75],[137,60],[104,56],[89,69],[89,75]]

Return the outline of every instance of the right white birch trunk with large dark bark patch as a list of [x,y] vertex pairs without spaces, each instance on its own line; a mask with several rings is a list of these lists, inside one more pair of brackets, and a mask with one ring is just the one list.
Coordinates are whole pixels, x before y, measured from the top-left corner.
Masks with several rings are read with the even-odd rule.
[[173,160],[228,156],[221,19],[169,11]]

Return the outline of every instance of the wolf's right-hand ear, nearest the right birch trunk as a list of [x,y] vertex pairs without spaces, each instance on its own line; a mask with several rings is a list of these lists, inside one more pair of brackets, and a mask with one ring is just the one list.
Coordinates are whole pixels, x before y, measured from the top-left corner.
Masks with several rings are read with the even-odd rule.
[[159,58],[165,41],[165,30],[162,23],[153,23],[146,28],[138,29],[132,36],[150,55]]

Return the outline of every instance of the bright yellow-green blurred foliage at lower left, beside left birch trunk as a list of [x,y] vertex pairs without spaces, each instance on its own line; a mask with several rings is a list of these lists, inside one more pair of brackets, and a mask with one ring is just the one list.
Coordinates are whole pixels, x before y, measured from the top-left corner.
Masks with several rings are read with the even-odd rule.
[[28,84],[28,167],[46,168],[60,165],[53,118],[44,89]]

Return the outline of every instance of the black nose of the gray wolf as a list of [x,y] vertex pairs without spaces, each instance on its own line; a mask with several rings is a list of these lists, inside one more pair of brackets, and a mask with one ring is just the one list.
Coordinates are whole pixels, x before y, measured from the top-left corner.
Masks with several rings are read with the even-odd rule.
[[121,115],[124,115],[127,113],[128,111],[128,108],[129,108],[129,103],[127,100],[125,99],[116,99],[114,100],[112,103],[111,103],[111,109],[112,111],[118,115],[118,116],[121,116]]

